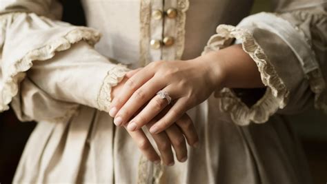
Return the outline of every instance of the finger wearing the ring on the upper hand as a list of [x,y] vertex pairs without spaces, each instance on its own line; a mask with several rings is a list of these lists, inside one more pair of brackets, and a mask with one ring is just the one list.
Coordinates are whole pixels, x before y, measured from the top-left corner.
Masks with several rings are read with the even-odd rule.
[[139,130],[143,125],[146,125],[149,121],[151,121],[159,112],[164,110],[168,105],[168,101],[166,99],[161,99],[158,95],[153,97],[148,105],[146,105],[141,112],[135,116],[130,123],[127,125],[127,129],[129,131]]

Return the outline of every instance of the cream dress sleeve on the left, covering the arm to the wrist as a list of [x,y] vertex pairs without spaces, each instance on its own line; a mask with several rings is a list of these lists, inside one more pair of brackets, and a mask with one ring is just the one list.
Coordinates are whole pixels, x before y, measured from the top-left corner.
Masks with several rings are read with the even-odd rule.
[[128,69],[93,46],[100,33],[57,21],[55,1],[0,6],[0,112],[9,104],[22,121],[70,119],[79,105],[108,112],[111,87]]

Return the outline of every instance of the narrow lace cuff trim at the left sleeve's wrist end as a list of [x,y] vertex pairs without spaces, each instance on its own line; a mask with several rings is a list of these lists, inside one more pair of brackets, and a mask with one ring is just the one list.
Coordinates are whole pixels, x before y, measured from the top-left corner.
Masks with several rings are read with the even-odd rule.
[[97,98],[99,110],[109,112],[109,106],[112,100],[111,88],[116,86],[121,80],[123,80],[123,77],[125,76],[126,72],[128,72],[128,68],[120,64],[109,70],[107,76],[103,80],[103,84],[100,88],[100,92]]

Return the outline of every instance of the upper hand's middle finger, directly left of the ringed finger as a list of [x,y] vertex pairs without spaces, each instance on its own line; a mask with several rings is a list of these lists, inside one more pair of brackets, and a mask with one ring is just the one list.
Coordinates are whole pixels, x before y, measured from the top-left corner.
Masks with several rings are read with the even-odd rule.
[[[156,79],[150,79],[141,88],[136,90],[130,99],[121,107],[117,115],[115,116],[115,125],[125,124],[130,117],[141,108],[146,102],[155,96],[157,91],[162,88],[162,83]],[[148,122],[147,122],[148,123]]]

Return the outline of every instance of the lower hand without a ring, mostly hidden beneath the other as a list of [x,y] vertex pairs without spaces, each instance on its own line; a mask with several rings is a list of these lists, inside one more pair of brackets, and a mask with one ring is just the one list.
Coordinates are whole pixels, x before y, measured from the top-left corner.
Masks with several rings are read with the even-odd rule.
[[[123,84],[136,72],[139,70],[132,70],[126,74],[126,77],[121,81],[117,86],[112,88],[112,98],[115,99],[115,96],[119,95],[119,92],[122,90]],[[166,114],[170,110],[168,106],[164,109],[155,119],[152,119],[146,127],[150,130],[150,127],[154,125],[157,120],[161,119],[162,116]],[[126,128],[126,127],[125,127]],[[127,130],[127,129],[126,129]],[[128,131],[128,130],[127,130]],[[186,149],[186,141],[191,145],[192,143],[197,143],[199,138],[197,136],[197,132],[195,130],[195,126],[192,123],[192,120],[188,116],[188,114],[184,114],[181,118],[172,124],[166,131],[161,132],[159,134],[152,134],[152,138],[157,144],[158,150],[161,154],[161,159],[154,147],[150,143],[148,137],[143,132],[143,130],[137,130],[134,132],[128,131],[132,139],[137,143],[139,150],[141,150],[142,154],[144,154],[150,161],[159,163],[162,159],[165,165],[174,165],[174,156],[172,154],[172,147],[175,150],[177,160],[180,162],[184,162],[187,160],[188,151]]]

